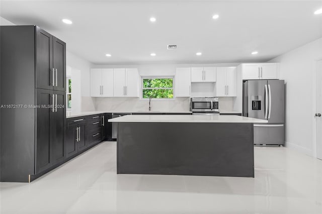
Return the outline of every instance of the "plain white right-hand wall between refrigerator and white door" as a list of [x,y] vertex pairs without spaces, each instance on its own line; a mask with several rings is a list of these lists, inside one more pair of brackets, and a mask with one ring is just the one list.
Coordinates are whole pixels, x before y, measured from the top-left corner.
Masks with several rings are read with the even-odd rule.
[[285,80],[285,141],[315,156],[315,71],[322,59],[322,38],[285,53],[269,62],[280,63]]

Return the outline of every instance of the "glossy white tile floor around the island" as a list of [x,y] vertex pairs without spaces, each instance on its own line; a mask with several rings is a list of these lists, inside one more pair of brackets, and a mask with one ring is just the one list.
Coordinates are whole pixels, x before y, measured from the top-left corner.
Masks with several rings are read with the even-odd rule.
[[1,183],[0,213],[322,213],[322,161],[255,147],[255,178],[117,175],[104,142],[32,183]]

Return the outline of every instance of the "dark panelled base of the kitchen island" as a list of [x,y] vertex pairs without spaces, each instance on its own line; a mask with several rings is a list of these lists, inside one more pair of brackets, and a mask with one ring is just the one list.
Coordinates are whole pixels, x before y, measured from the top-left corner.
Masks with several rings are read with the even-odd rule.
[[251,123],[118,123],[118,174],[254,177]]

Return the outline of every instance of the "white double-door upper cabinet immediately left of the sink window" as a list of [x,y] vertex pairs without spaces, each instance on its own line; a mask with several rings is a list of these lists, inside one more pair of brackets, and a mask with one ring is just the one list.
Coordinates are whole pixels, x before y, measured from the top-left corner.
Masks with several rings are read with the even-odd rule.
[[139,96],[139,73],[137,68],[114,69],[114,96]]

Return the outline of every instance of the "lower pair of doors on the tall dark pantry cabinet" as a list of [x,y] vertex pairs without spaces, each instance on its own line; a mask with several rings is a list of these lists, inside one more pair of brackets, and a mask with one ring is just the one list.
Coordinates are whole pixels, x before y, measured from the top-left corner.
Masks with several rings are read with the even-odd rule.
[[64,159],[65,92],[37,89],[36,172]]

